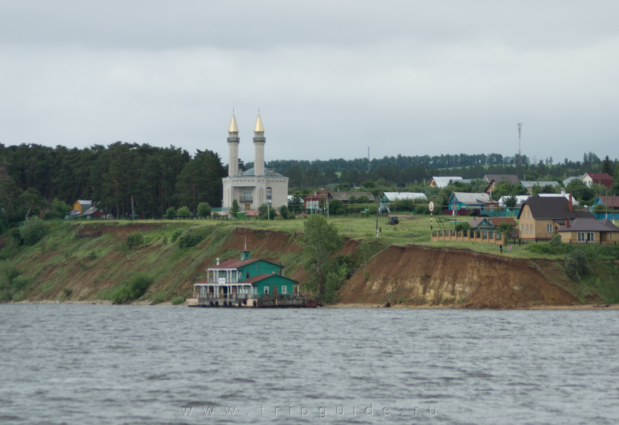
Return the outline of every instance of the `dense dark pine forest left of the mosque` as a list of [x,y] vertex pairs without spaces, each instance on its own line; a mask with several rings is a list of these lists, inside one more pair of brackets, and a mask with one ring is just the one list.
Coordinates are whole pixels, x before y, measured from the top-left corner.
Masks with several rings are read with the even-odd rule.
[[[92,200],[116,217],[163,216],[168,208],[201,202],[220,206],[219,155],[182,148],[123,143],[89,148],[0,145],[0,208],[4,225],[22,221],[58,203]],[[62,208],[61,208],[62,209]],[[53,209],[52,209],[53,211]]]

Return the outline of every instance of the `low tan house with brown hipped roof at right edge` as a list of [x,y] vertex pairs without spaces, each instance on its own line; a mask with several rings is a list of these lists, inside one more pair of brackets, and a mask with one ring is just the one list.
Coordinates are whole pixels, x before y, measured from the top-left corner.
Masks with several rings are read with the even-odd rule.
[[563,243],[599,243],[617,245],[619,229],[608,219],[594,218],[566,219],[565,225],[557,230]]

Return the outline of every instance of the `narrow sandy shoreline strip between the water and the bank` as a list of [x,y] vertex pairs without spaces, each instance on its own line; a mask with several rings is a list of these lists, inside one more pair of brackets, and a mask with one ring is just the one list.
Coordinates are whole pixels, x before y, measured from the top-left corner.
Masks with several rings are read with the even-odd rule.
[[[18,301],[13,302],[10,301],[8,303],[0,303],[0,304],[81,304],[81,305],[113,305],[111,301],[108,300],[84,300],[84,301],[58,301],[58,300],[40,300],[40,301]],[[150,301],[140,301],[137,303],[124,304],[124,305],[140,305],[140,306],[180,306],[186,307],[186,304],[178,304],[173,305],[170,301],[166,301],[165,303],[154,304]],[[619,310],[618,304],[610,304],[610,303],[601,303],[601,304],[577,304],[577,305],[539,305],[539,306],[530,306],[530,307],[519,307],[519,308],[464,308],[461,306],[454,305],[392,305],[391,307],[386,307],[384,304],[378,303],[337,303],[331,304],[319,308],[402,308],[402,309],[453,309],[453,310]]]

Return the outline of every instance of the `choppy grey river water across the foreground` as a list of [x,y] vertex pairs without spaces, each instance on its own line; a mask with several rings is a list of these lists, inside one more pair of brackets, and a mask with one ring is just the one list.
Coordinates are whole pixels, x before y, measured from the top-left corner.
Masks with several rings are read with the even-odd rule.
[[617,424],[617,314],[0,305],[0,423]]

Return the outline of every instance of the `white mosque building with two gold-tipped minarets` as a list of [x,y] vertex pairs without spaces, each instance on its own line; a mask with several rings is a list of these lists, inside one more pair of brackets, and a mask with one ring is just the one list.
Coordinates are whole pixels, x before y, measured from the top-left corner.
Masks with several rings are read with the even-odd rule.
[[288,205],[288,177],[264,168],[264,127],[260,114],[254,127],[254,167],[238,170],[238,125],[232,116],[228,128],[228,177],[223,177],[223,208],[230,208],[237,200],[241,210],[258,209],[262,204],[273,208]]

